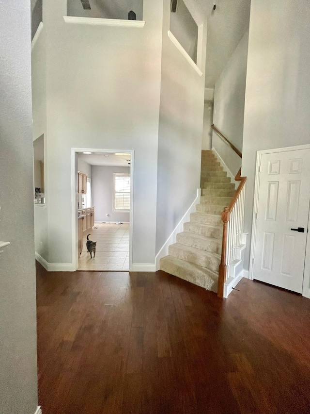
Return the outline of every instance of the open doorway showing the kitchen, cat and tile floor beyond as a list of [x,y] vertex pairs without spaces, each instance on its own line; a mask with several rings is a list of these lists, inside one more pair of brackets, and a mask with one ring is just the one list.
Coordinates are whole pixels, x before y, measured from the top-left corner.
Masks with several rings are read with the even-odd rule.
[[73,258],[77,270],[131,270],[133,152],[72,149]]

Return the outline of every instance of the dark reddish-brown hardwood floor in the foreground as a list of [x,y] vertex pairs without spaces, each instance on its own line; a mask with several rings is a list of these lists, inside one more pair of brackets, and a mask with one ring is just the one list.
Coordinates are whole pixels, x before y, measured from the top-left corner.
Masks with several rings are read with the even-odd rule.
[[37,265],[43,414],[310,413],[310,300]]

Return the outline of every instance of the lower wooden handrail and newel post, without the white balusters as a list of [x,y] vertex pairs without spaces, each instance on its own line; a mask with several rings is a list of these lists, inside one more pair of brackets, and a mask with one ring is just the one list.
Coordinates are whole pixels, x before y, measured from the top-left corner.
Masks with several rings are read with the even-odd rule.
[[222,239],[222,254],[221,254],[221,263],[218,267],[218,286],[217,286],[217,296],[223,298],[224,296],[224,283],[226,282],[227,274],[227,263],[226,263],[226,248],[227,248],[227,226],[230,219],[231,212],[233,207],[240,196],[240,193],[247,181],[247,177],[241,177],[241,167],[235,176],[235,181],[240,181],[237,191],[233,196],[232,201],[228,207],[224,208],[222,212],[222,221],[223,221],[223,239]]

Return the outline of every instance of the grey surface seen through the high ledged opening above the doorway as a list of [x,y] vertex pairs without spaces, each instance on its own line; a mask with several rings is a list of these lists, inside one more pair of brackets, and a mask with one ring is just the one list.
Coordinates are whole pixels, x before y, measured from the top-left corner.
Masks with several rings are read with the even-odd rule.
[[80,0],[68,0],[68,16],[97,17],[127,20],[133,10],[137,20],[142,20],[143,0],[89,0],[91,10],[84,10]]

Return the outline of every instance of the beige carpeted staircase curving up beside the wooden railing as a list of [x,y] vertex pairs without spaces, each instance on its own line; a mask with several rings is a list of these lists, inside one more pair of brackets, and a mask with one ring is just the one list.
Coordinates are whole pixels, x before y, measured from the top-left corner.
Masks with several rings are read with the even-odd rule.
[[221,213],[235,193],[234,184],[211,150],[202,151],[202,197],[169,246],[169,256],[160,260],[160,269],[205,289],[217,291],[218,266],[222,248]]

